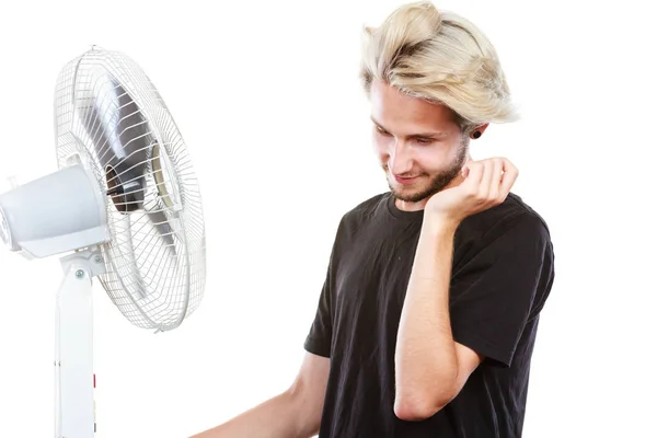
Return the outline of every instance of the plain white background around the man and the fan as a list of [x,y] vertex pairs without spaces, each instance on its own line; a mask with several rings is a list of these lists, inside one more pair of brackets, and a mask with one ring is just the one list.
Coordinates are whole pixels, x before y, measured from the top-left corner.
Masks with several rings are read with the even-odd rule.
[[[55,170],[56,76],[97,44],[154,81],[201,184],[209,272],[193,318],[153,335],[95,289],[96,436],[183,438],[284,390],[337,221],[387,189],[357,80],[359,33],[400,2],[8,4],[1,182]],[[522,111],[473,155],[518,165],[515,192],[555,244],[528,438],[655,436],[657,32],[646,4],[439,3],[492,38]],[[0,437],[50,437],[61,269],[0,252]]]

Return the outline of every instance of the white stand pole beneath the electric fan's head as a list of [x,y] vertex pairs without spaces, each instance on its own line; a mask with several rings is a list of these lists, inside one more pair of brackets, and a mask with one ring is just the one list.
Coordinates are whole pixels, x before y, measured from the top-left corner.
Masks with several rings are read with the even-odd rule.
[[100,251],[61,260],[65,278],[55,311],[55,438],[95,433],[92,278],[103,270]]

